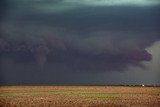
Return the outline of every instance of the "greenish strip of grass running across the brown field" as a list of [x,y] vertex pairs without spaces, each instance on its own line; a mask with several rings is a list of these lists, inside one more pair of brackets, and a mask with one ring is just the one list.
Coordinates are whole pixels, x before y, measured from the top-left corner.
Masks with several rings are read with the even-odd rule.
[[[103,95],[117,95],[117,94],[160,94],[160,91],[146,91],[146,92],[121,92],[121,91],[98,91],[98,90],[1,90],[0,96],[34,96],[34,95],[53,95],[53,94],[103,94]],[[103,96],[101,96],[102,98]],[[106,96],[104,96],[105,98]],[[107,96],[108,97],[108,96]],[[97,96],[98,98],[98,96]]]

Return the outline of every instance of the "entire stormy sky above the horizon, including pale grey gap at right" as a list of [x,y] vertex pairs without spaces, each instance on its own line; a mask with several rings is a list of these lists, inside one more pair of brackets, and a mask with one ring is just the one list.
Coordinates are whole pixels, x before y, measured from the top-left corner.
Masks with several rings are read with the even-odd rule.
[[160,85],[159,0],[1,0],[1,84]]

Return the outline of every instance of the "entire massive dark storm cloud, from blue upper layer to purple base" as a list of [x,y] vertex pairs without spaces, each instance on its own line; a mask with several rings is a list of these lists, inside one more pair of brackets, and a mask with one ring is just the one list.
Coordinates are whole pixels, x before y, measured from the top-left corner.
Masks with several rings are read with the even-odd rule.
[[47,75],[124,71],[150,61],[146,48],[160,40],[159,6],[73,6],[63,0],[11,3],[0,26],[2,71],[9,72],[11,65],[14,72],[26,75],[39,66]]

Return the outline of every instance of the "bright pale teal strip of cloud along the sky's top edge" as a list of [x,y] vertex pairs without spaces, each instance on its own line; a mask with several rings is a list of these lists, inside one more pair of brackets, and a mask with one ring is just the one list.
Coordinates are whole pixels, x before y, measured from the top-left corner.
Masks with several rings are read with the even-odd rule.
[[[30,9],[37,9],[41,12],[58,13],[73,9],[91,7],[110,7],[110,6],[137,6],[150,7],[159,6],[159,0],[9,0],[15,5],[30,5]],[[23,3],[22,3],[23,2]]]

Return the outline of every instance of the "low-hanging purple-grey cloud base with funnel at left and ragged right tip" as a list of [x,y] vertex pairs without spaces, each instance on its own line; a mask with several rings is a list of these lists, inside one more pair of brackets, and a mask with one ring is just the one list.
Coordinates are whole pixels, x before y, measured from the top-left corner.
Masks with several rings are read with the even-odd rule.
[[[65,66],[67,71],[124,71],[128,66],[142,67],[142,61],[150,61],[152,55],[145,49],[157,40],[156,35],[154,38],[153,35],[145,34],[128,36],[124,32],[92,31],[81,35],[78,31],[59,33],[53,29],[48,33],[40,27],[38,30],[29,35],[25,31],[18,34],[16,30],[14,34],[7,29],[0,39],[1,55],[22,52],[26,56],[32,54],[33,57],[28,57],[27,60],[33,61],[31,58],[34,58],[43,69],[48,63],[57,63],[60,68],[53,70]],[[27,36],[21,38],[25,34]],[[147,39],[141,39],[142,37]],[[23,54],[18,57],[13,54],[12,57],[20,59]],[[26,59],[19,63],[24,62]]]

